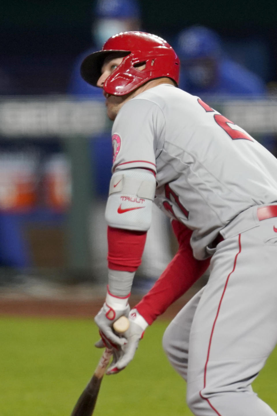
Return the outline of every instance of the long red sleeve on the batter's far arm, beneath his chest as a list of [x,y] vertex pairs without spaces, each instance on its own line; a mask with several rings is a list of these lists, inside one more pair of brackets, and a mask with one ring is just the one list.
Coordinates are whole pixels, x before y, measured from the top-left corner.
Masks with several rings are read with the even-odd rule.
[[192,231],[179,221],[172,221],[179,250],[152,289],[135,306],[148,324],[152,322],[196,282],[207,270],[210,259],[196,260],[192,254]]

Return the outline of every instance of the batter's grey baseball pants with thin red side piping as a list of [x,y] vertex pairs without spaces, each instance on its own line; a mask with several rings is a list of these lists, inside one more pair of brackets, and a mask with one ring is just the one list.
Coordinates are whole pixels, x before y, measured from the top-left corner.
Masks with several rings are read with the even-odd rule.
[[207,285],[164,333],[196,416],[276,416],[251,387],[277,344],[275,228],[265,219],[219,243]]

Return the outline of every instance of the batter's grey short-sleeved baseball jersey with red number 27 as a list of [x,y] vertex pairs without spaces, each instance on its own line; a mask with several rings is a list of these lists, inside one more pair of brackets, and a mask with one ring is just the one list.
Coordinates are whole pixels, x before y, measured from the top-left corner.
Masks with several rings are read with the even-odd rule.
[[194,230],[198,259],[213,254],[218,233],[225,236],[223,228],[239,213],[277,201],[276,158],[201,99],[170,84],[123,105],[113,124],[113,148],[113,171],[156,173],[154,202]]

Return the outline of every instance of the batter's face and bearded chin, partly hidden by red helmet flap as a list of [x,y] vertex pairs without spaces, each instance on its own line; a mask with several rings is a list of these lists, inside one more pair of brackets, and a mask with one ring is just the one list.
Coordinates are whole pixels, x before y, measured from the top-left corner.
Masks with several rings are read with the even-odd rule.
[[[105,80],[110,76],[110,74],[118,67],[118,65],[121,64],[123,61],[122,58],[117,57],[108,57],[105,59],[101,72],[102,75],[99,77],[97,86],[100,88],[103,88]],[[103,90],[103,94],[106,97],[106,107],[107,107],[107,114],[110,120],[114,120],[116,115],[118,114],[118,111],[123,106],[126,96],[117,97],[116,95],[111,95],[106,93]]]

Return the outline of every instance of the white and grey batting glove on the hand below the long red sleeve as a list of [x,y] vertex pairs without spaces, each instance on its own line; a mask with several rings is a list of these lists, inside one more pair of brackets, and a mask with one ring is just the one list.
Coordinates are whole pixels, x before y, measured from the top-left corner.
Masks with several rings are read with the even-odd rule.
[[124,333],[127,343],[124,344],[116,354],[113,355],[113,362],[110,364],[106,374],[117,374],[123,370],[134,358],[140,339],[142,339],[148,324],[136,309],[129,314],[130,327]]

